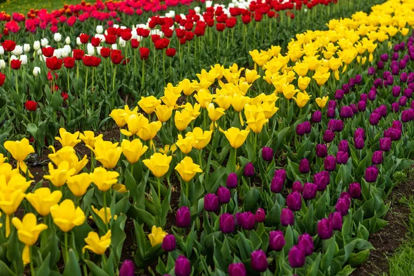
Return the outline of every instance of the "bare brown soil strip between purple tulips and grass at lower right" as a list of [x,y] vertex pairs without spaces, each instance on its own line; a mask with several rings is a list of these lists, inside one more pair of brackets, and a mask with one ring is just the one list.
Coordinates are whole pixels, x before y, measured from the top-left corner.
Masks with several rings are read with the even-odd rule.
[[368,242],[374,246],[361,266],[353,272],[353,276],[383,275],[388,273],[388,258],[406,239],[408,216],[411,210],[404,204],[404,199],[414,195],[413,182],[404,182],[393,189],[388,197],[391,202],[388,213],[383,217],[388,224],[379,232],[371,234]]

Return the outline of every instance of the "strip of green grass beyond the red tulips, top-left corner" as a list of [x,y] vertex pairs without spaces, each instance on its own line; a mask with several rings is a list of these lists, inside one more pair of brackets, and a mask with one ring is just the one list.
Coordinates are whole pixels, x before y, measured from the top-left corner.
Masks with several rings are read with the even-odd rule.
[[[95,1],[87,1],[89,3]],[[46,8],[46,10],[58,10],[59,8],[63,8],[64,4],[77,4],[81,3],[81,0],[7,0],[4,3],[0,3],[0,11],[5,11],[8,14],[12,14],[13,12],[19,12],[23,14],[27,14],[30,9],[42,9]]]

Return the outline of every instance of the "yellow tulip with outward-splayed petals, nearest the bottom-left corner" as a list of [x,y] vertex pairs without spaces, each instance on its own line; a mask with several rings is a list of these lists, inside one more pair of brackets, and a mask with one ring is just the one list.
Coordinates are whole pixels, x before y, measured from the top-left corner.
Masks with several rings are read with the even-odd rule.
[[46,224],[37,224],[37,217],[33,213],[28,213],[20,220],[17,217],[13,217],[12,223],[17,229],[17,237],[19,241],[25,244],[23,254],[23,264],[30,263],[30,246],[37,242],[41,231],[46,230],[48,226]]

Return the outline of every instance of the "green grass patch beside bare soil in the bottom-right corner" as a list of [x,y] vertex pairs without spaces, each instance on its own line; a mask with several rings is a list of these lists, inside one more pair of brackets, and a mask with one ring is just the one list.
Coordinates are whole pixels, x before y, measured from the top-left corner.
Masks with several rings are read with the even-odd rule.
[[407,221],[407,240],[388,259],[390,276],[413,275],[414,271],[414,197],[406,199],[406,204],[411,210]]

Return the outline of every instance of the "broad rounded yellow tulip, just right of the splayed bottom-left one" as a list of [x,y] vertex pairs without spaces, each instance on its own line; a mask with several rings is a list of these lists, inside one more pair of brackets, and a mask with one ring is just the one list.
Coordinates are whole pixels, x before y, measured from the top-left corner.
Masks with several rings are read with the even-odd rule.
[[53,222],[65,233],[69,232],[75,226],[80,226],[85,222],[85,213],[70,199],[65,199],[61,204],[55,204],[50,207],[50,215]]

